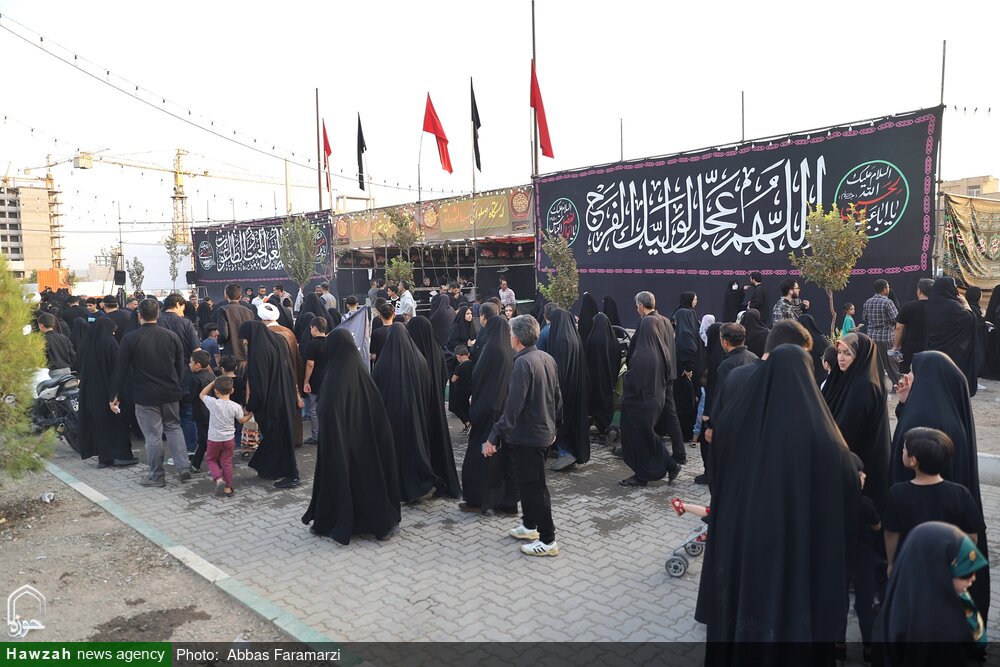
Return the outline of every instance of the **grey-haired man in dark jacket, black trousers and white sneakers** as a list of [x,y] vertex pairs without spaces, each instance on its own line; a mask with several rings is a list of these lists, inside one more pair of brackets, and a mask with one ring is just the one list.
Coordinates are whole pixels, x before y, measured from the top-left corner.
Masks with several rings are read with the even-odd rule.
[[523,521],[508,534],[531,540],[521,547],[529,556],[557,556],[556,528],[545,485],[545,453],[556,439],[562,420],[559,369],[555,359],[535,347],[538,321],[521,315],[510,321],[510,344],[514,367],[508,383],[507,403],[490,437],[483,443],[483,456],[497,452],[494,443],[504,443],[511,458],[521,495]]

